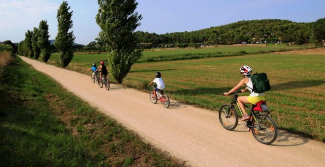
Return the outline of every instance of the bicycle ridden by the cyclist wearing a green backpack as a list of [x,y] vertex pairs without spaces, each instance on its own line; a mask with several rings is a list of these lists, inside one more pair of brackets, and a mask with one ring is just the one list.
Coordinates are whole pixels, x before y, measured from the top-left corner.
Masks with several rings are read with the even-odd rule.
[[[229,131],[235,129],[238,124],[238,113],[235,105],[238,107],[241,115],[244,115],[237,101],[238,93],[241,93],[241,91],[230,93],[233,95],[232,102],[224,104],[219,111],[220,123]],[[268,111],[266,104],[262,103],[260,106],[253,105],[252,107],[244,105],[245,109],[250,111],[250,118],[246,121],[247,130],[251,131],[254,138],[260,143],[271,144],[274,142],[278,135],[278,129],[271,118],[271,111]]]

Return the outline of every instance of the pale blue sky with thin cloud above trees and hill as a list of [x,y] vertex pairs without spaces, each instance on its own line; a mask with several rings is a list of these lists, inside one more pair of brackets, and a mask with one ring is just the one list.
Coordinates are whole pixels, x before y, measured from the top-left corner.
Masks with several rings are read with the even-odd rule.
[[[100,31],[97,0],[66,0],[73,11],[75,43],[87,45]],[[0,42],[18,43],[25,32],[47,20],[49,39],[58,33],[63,0],[0,0]],[[164,34],[217,27],[242,20],[283,19],[315,22],[325,18],[325,0],[136,0],[142,15],[136,30]]]

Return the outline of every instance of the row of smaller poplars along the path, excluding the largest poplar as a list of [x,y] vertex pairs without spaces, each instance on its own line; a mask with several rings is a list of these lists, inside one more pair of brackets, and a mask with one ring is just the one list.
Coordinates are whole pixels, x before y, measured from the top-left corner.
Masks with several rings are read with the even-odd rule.
[[[69,10],[70,6],[66,1],[63,1],[57,14],[58,34],[55,37],[54,46],[59,51],[59,64],[62,67],[66,67],[73,58],[72,45],[75,37],[73,31],[69,31],[73,26],[72,11]],[[38,28],[34,27],[32,31],[27,30],[25,40],[18,44],[18,54],[35,59],[41,57],[44,62],[47,62],[51,57],[48,29],[47,21],[42,20]]]

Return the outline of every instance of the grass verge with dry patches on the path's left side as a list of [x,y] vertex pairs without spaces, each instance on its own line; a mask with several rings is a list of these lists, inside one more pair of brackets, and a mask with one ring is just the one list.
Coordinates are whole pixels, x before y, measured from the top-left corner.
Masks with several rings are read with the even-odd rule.
[[183,166],[20,58],[0,83],[0,166]]

